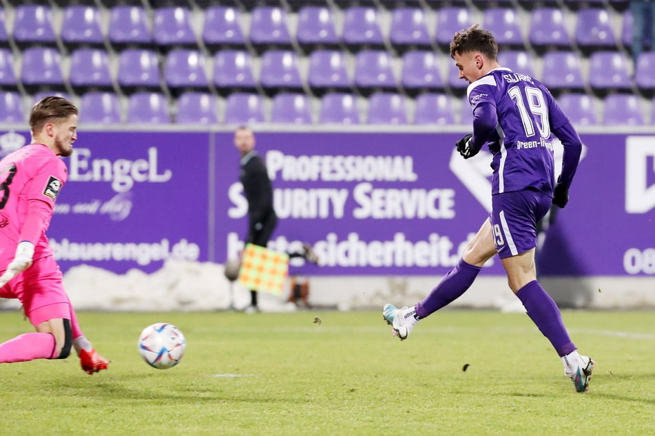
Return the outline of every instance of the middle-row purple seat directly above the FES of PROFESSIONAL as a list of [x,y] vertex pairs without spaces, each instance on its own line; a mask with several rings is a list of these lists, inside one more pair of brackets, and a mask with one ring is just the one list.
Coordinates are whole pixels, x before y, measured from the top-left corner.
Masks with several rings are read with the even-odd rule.
[[350,89],[346,57],[340,50],[316,50],[309,56],[309,86],[312,89]]

